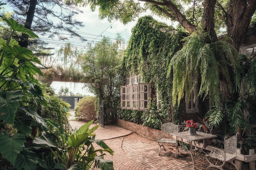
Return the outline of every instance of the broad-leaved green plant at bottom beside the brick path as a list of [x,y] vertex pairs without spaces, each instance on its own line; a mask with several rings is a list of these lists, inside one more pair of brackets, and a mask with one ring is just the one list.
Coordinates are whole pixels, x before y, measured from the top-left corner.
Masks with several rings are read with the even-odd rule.
[[[106,143],[101,140],[96,140],[94,131],[100,125],[95,125],[91,129],[93,120],[81,126],[73,134],[65,133],[61,126],[55,122],[48,120],[52,126],[52,131],[47,132],[47,135],[42,135],[34,139],[33,146],[35,150],[48,150],[44,154],[39,155],[41,159],[51,161],[50,164],[54,169],[60,170],[89,170],[96,162],[96,167],[102,170],[114,170],[113,162],[102,159],[107,152],[113,155],[113,152]],[[52,139],[47,136],[51,136]],[[100,149],[95,149],[93,143],[99,145]],[[54,155],[52,159],[46,159],[49,155]],[[52,169],[50,168],[50,169]]]

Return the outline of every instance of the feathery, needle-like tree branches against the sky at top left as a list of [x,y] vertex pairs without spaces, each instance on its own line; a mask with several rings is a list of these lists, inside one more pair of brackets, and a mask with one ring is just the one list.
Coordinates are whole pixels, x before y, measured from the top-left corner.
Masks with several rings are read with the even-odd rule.
[[[25,28],[30,29],[42,36],[54,38],[58,36],[59,40],[67,40],[63,34],[65,31],[70,37],[79,37],[82,41],[85,38],[76,33],[74,29],[83,27],[81,21],[73,18],[78,14],[78,8],[74,8],[59,0],[4,0],[13,7],[12,16]],[[27,47],[29,45],[28,37],[22,34],[20,45]]]

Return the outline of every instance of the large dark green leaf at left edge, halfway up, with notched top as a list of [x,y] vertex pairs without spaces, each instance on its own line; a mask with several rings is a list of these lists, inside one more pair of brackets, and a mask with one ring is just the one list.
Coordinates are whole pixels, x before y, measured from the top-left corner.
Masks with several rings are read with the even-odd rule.
[[0,91],[0,120],[13,124],[17,108],[20,106],[19,101],[22,94],[20,90],[8,91],[4,98]]

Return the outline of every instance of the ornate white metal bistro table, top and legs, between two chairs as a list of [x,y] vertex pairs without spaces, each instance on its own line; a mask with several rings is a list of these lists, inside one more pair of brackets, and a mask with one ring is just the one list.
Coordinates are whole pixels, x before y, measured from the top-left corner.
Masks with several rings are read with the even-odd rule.
[[[188,131],[184,131],[184,132],[175,132],[175,133],[172,133],[173,136],[176,136],[177,138],[181,138],[181,141],[182,141],[182,147],[184,148],[184,145],[183,145],[183,140],[187,140],[187,142],[190,144],[190,150],[181,150],[180,152],[184,152],[184,151],[188,151],[191,155],[191,158],[192,158],[192,161],[193,161],[193,166],[194,166],[194,169],[195,169],[195,163],[194,163],[194,159],[193,159],[193,155],[192,155],[192,152],[194,151],[197,151],[197,150],[201,150],[203,148],[205,148],[205,145],[204,145],[204,139],[209,139],[209,138],[215,138],[217,137],[216,135],[214,134],[208,134],[208,133],[204,133],[204,132],[196,132],[197,135],[195,136],[191,136],[188,134]],[[196,147],[196,144],[195,142],[196,141],[199,141],[203,139],[203,147],[198,149]],[[178,139],[177,139],[178,140]],[[194,147],[193,147],[193,143],[194,143]],[[179,154],[180,152],[177,153],[177,150],[178,150],[178,145],[176,145],[176,150],[175,150],[175,158],[177,158],[177,154]]]

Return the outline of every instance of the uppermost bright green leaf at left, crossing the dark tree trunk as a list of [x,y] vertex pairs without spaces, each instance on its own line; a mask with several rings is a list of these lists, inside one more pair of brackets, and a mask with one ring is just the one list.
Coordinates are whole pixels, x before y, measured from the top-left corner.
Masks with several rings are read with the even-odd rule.
[[3,20],[11,26],[13,31],[19,31],[19,32],[27,34],[33,38],[38,38],[38,36],[35,33],[33,33],[31,30],[25,28],[23,25],[19,24],[17,21],[13,20],[12,18],[10,18],[10,19],[4,18]]

